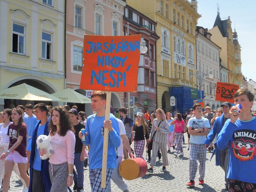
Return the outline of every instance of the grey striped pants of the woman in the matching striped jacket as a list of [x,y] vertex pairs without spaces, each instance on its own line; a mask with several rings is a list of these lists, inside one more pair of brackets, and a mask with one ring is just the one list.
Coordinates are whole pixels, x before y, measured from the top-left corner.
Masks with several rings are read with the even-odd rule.
[[162,152],[163,165],[168,165],[166,143],[158,143],[155,141],[151,141],[151,142],[153,142],[153,146],[152,146],[152,156],[150,160],[150,165],[156,165],[156,155],[159,147]]

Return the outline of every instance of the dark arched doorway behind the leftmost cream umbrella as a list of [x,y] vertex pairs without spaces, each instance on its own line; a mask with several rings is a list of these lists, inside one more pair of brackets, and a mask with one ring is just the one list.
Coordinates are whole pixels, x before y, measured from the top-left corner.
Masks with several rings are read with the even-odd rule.
[[[44,92],[47,92],[49,94],[52,94],[56,92],[56,89],[48,82],[44,81],[43,79],[41,80],[40,78],[29,78],[29,77],[23,77],[23,79],[17,79],[17,81],[13,80],[9,84],[5,86],[4,89],[26,83],[30,86],[33,86],[37,89],[40,89]],[[45,103],[46,105],[52,105],[52,106],[57,106],[58,102],[56,101],[30,101],[30,100],[14,100],[14,99],[4,99],[4,108],[13,108],[18,105],[26,105],[31,103],[32,105],[36,105],[37,103]]]

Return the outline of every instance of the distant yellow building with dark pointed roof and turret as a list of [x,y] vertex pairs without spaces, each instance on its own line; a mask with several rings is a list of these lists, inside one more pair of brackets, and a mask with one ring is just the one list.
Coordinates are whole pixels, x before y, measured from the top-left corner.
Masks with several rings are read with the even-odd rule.
[[228,74],[227,82],[231,84],[241,85],[243,83],[243,75],[241,71],[241,49],[237,39],[236,30],[232,31],[230,17],[226,20],[220,19],[220,13],[217,13],[213,28],[208,32],[212,34],[211,40],[221,47],[221,73]]

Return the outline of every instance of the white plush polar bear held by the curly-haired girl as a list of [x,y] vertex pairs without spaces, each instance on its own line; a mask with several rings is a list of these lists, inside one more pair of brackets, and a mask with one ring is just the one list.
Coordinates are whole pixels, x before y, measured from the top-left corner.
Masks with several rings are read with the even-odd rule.
[[40,156],[40,158],[42,160],[49,158],[49,156],[51,156],[53,154],[53,148],[52,148],[52,145],[50,143],[48,136],[39,135],[39,137],[36,140],[36,144],[37,144],[38,150],[45,149],[45,151],[46,151],[46,154],[44,154],[43,156]]

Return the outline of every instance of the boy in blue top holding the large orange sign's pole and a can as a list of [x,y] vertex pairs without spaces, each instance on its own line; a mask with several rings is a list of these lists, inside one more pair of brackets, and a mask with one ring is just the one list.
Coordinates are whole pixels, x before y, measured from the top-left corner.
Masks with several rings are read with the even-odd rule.
[[[110,113],[109,120],[105,121],[105,107],[107,95],[103,91],[96,91],[92,94],[92,110],[96,114],[87,118],[86,123],[86,141],[84,145],[90,145],[90,184],[92,192],[105,192],[110,184],[113,169],[116,167],[116,148],[121,144],[119,135],[119,124],[116,117]],[[101,188],[101,173],[102,173],[102,154],[103,154],[103,140],[104,127],[108,127],[108,157],[107,157],[107,174],[106,174],[106,188]],[[81,131],[79,138],[82,138]]]

